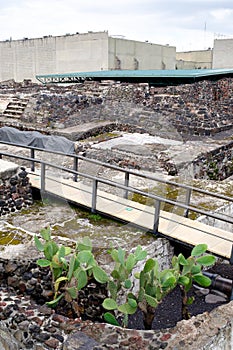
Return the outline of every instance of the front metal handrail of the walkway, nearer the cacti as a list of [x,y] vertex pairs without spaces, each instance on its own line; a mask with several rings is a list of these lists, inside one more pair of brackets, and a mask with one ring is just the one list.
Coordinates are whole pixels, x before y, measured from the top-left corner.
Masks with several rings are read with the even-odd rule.
[[29,162],[34,161],[36,163],[41,164],[41,190],[42,191],[45,190],[46,166],[50,166],[50,167],[53,167],[55,169],[66,171],[66,172],[69,172],[71,174],[74,174],[74,175],[77,175],[77,176],[80,176],[80,177],[85,177],[87,179],[92,180],[93,181],[93,188],[92,188],[92,211],[93,212],[95,212],[95,209],[96,209],[95,205],[96,205],[96,198],[97,198],[97,185],[98,185],[99,182],[101,182],[103,184],[106,184],[106,185],[118,187],[118,188],[123,189],[123,190],[128,191],[128,192],[137,193],[137,194],[146,196],[148,198],[154,199],[155,200],[155,215],[154,215],[154,232],[155,233],[158,232],[158,224],[159,224],[159,214],[160,214],[160,204],[161,204],[161,202],[181,207],[183,209],[186,209],[186,211],[190,210],[190,211],[196,212],[198,214],[206,215],[208,217],[212,217],[212,218],[215,218],[217,220],[221,220],[221,221],[225,221],[225,222],[233,224],[233,218],[228,216],[228,215],[226,215],[226,214],[220,215],[220,214],[208,212],[208,211],[205,211],[205,210],[193,207],[191,205],[183,204],[183,203],[178,202],[178,201],[173,201],[171,199],[167,199],[167,198],[164,198],[164,197],[161,197],[161,196],[157,196],[157,195],[152,194],[152,193],[147,193],[147,192],[144,192],[142,190],[138,190],[138,189],[136,189],[136,188],[134,188],[132,186],[125,186],[125,185],[119,184],[117,182],[114,182],[112,180],[100,178],[98,176],[93,176],[93,175],[90,175],[90,174],[85,174],[85,173],[76,171],[74,169],[68,169],[66,167],[63,167],[63,166],[60,166],[60,165],[56,165],[56,164],[53,164],[53,163],[50,163],[50,162],[42,161],[40,159],[25,157],[25,156],[21,156],[21,155],[15,155],[15,154],[7,153],[7,152],[0,152],[0,154],[4,155],[4,156],[7,156],[7,157],[12,157],[12,158],[16,158],[16,159],[23,159],[23,160],[26,160],[26,161],[29,161]]

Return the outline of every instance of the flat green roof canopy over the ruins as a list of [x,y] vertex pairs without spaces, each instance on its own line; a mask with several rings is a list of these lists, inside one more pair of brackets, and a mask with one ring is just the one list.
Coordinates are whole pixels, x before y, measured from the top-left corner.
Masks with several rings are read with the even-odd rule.
[[114,80],[126,83],[148,83],[151,86],[190,84],[201,80],[218,80],[224,77],[233,77],[233,69],[108,70],[36,75],[36,78],[43,84]]

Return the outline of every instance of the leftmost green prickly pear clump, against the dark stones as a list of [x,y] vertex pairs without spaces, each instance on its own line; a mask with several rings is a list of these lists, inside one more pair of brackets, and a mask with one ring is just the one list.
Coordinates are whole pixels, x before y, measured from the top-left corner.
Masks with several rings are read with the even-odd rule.
[[[88,237],[77,242],[75,250],[72,251],[70,247],[58,246],[53,241],[49,227],[42,229],[40,235],[43,242],[37,236],[34,237],[34,241],[45,258],[38,259],[37,264],[50,268],[54,290],[53,300],[47,302],[48,306],[56,307],[62,298],[67,302],[75,303],[79,290],[84,288],[91,278],[99,283],[108,282],[108,275],[98,266],[94,258],[92,244]],[[74,309],[78,308],[74,307]]]

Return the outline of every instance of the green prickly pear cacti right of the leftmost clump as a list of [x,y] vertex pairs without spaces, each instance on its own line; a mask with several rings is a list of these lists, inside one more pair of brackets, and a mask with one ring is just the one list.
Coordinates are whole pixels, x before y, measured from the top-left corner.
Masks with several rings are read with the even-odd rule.
[[[139,249],[139,248],[137,248]],[[124,315],[123,326],[127,326],[128,315],[134,314],[140,309],[144,315],[145,329],[151,329],[156,307],[161,303],[163,298],[170,293],[177,285],[182,291],[182,315],[187,319],[188,305],[193,302],[193,298],[188,297],[188,291],[191,289],[193,282],[201,286],[209,286],[211,280],[204,276],[202,269],[205,266],[211,266],[215,263],[215,257],[206,255],[207,245],[199,244],[193,248],[191,256],[185,258],[182,254],[172,259],[172,268],[160,271],[158,261],[149,258],[143,269],[135,273],[135,278],[139,279],[139,288],[137,293],[130,291],[125,293],[125,303],[117,302],[120,292],[130,289],[129,274],[136,264],[134,255],[125,258],[125,252],[119,248],[118,251],[112,252],[112,257],[116,261],[115,268],[111,274],[113,280],[108,282],[108,288],[111,298],[106,298],[103,307],[108,310],[105,313],[105,320],[112,324],[120,325],[114,315],[117,310]],[[145,252],[146,253],[146,252]],[[141,254],[145,258],[146,254]],[[130,269],[126,268],[126,261],[132,260]]]

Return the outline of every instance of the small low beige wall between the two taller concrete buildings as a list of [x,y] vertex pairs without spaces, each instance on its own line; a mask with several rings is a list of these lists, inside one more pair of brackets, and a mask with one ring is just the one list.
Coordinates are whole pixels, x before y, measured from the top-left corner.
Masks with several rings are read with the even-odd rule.
[[212,68],[212,50],[187,51],[176,53],[177,69]]

